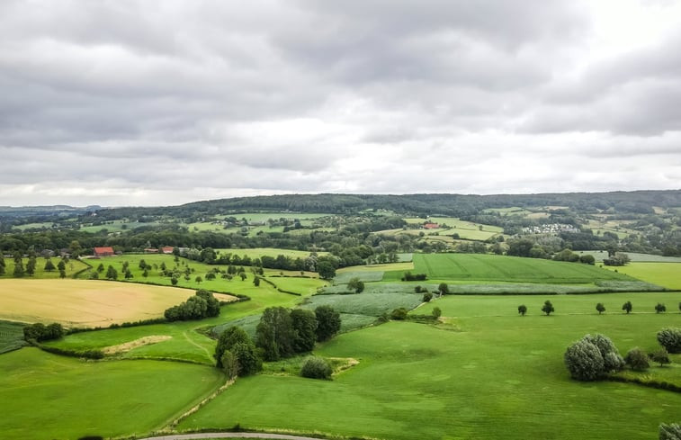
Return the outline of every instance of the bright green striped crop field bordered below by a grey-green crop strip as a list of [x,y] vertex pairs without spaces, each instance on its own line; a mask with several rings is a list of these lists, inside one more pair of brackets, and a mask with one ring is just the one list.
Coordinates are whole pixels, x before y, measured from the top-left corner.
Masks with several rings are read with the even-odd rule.
[[[414,272],[433,280],[480,280],[525,283],[595,283],[632,281],[631,277],[593,265],[515,256],[415,254]],[[396,274],[386,273],[394,279]],[[401,274],[397,274],[401,277]],[[399,279],[399,278],[398,278]]]

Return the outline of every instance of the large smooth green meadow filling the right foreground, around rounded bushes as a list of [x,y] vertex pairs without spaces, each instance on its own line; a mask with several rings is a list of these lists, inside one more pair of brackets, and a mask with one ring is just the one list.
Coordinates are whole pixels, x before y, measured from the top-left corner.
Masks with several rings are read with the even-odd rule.
[[[512,300],[514,306],[519,301]],[[451,317],[459,302],[447,297],[435,305]],[[474,315],[485,312],[475,309]],[[617,382],[571,381],[563,352],[587,332],[605,333],[623,352],[653,347],[655,332],[677,318],[471,316],[455,319],[449,330],[391,322],[346,333],[317,350],[359,360],[333,381],[273,375],[239,379],[179,428],[238,423],[390,439],[652,439],[660,422],[678,419],[681,395]],[[680,356],[674,357],[679,362]]]

